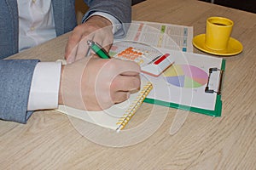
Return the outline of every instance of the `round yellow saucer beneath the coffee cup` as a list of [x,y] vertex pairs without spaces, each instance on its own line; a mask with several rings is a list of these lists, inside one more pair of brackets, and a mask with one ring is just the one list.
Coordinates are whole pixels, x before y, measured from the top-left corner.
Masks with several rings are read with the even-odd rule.
[[215,54],[215,55],[236,55],[236,54],[240,54],[242,51],[241,42],[237,41],[235,38],[230,37],[228,48],[224,50],[213,50],[213,49],[207,48],[205,45],[205,38],[206,38],[206,34],[195,36],[193,38],[193,45],[195,46],[195,48],[198,48],[201,51],[206,52],[208,54]]

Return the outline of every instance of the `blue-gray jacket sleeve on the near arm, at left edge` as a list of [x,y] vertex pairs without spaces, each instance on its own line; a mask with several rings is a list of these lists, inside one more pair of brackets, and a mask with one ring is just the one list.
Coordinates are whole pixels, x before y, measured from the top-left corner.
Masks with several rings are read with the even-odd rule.
[[27,102],[36,59],[0,59],[0,119],[26,123]]

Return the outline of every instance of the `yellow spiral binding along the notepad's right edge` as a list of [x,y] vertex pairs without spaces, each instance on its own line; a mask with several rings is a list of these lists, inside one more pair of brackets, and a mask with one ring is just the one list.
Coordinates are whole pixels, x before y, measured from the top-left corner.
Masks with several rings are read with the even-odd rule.
[[117,132],[122,130],[126,126],[126,124],[131,120],[131,117],[136,113],[140,105],[143,104],[144,99],[148,96],[152,88],[153,85],[151,82],[148,82],[147,85],[143,87],[143,89],[137,96],[137,99],[132,102],[127,111],[125,111],[125,114],[119,119],[119,122],[116,123],[117,125],[119,125],[119,127],[117,127],[116,129]]

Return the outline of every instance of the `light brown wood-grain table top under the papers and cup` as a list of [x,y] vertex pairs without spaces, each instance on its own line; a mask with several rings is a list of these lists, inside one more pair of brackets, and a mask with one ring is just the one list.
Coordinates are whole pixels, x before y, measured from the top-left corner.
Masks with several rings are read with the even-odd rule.
[[[177,112],[170,109],[148,139],[114,148],[86,139],[59,112],[37,111],[26,125],[0,122],[0,169],[255,169],[256,14],[195,0],[147,0],[133,6],[132,19],[194,26],[197,35],[204,33],[207,17],[216,15],[234,20],[232,37],[244,46],[241,54],[225,58],[221,117],[189,113],[170,135]],[[55,61],[64,56],[67,37],[10,58]],[[150,107],[143,104],[131,125]]]

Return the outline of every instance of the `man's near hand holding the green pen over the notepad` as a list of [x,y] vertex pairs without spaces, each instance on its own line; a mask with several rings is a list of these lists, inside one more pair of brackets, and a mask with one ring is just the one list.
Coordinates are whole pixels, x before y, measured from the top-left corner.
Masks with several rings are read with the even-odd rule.
[[120,59],[87,57],[62,66],[59,104],[101,111],[140,88],[140,66]]

